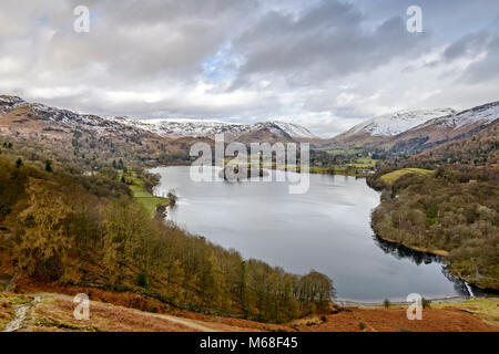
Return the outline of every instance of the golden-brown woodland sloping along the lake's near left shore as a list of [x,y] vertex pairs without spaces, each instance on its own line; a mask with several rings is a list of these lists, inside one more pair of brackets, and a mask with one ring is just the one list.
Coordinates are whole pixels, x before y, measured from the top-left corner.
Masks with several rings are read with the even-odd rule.
[[48,165],[0,157],[0,252],[23,277],[100,284],[182,309],[272,322],[306,315],[334,296],[324,274],[244,260],[151,218],[124,183]]

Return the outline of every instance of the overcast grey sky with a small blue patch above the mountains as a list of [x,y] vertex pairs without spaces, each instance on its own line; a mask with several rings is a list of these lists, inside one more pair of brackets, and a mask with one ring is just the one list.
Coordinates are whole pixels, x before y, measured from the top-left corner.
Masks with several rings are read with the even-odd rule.
[[[73,30],[80,4],[89,33]],[[421,33],[407,31],[414,4]],[[1,1],[0,93],[333,136],[391,111],[498,101],[499,1]]]

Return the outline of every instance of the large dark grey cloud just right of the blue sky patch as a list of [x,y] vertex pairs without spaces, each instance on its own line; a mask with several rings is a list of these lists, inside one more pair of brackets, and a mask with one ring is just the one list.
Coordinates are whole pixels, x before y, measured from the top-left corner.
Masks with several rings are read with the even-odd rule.
[[309,85],[374,70],[396,56],[410,55],[427,37],[409,33],[400,17],[373,31],[363,28],[364,20],[358,9],[338,1],[323,1],[297,19],[267,13],[235,43],[245,58],[235,86],[252,75],[257,80],[258,75],[284,75],[291,85]]

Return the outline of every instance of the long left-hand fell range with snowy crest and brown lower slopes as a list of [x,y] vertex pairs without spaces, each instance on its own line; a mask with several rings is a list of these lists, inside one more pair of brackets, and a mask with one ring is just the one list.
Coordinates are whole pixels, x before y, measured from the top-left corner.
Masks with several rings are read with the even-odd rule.
[[[196,142],[293,143],[316,138],[303,126],[285,122],[232,124],[210,121],[141,121],[105,117],[0,95],[0,142],[18,142],[23,156],[54,158],[94,168],[115,159],[142,165],[189,160]],[[3,138],[2,138],[3,137]],[[43,156],[42,156],[43,155]]]

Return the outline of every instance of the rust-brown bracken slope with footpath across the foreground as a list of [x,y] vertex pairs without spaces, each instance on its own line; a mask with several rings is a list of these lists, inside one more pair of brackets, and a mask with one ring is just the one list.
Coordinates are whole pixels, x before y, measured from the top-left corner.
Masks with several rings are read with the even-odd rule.
[[[342,308],[333,306],[320,315],[309,315],[283,324],[203,315],[187,311],[156,313],[133,308],[139,300],[129,294],[90,292],[90,319],[73,316],[77,291],[0,293],[0,330],[17,332],[497,332],[497,300],[471,300],[431,304],[422,310],[421,321],[409,321],[406,306]],[[90,290],[91,291],[91,290]],[[14,309],[27,309],[16,315]],[[364,329],[361,329],[364,327]],[[194,348],[194,347],[193,347]]]

